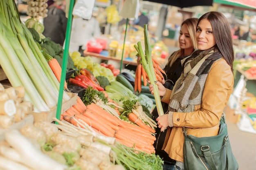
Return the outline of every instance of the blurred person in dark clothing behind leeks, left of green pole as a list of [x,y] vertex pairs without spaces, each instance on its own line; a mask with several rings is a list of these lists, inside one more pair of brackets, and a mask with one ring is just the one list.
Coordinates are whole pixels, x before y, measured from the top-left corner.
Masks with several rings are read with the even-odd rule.
[[53,42],[63,46],[67,28],[67,18],[64,11],[66,8],[66,1],[55,0],[54,3],[50,1],[49,4],[47,17],[43,19],[43,24],[45,26],[43,35],[51,38]]

